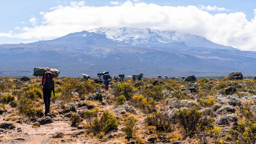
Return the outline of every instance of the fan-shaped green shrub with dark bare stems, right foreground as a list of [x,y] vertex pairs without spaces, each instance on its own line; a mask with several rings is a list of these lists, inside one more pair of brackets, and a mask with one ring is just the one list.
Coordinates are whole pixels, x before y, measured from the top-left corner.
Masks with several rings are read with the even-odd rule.
[[193,108],[183,108],[177,110],[179,124],[185,130],[185,136],[193,135],[197,125],[202,118],[202,112]]

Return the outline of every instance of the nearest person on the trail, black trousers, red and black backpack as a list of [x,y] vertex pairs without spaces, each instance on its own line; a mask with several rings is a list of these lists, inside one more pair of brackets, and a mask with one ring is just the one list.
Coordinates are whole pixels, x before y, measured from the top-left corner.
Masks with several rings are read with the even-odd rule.
[[45,103],[45,116],[47,116],[47,113],[50,113],[51,91],[53,91],[53,95],[55,96],[52,72],[45,72],[42,78],[42,90]]

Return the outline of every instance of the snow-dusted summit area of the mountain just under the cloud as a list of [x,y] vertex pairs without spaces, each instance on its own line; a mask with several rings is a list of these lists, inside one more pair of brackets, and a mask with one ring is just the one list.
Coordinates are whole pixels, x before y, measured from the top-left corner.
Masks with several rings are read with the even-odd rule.
[[[162,45],[162,46],[175,46],[175,43],[185,43],[189,47],[206,47],[217,49],[231,49],[207,40],[204,37],[190,35],[187,33],[178,33],[175,31],[161,31],[151,29],[138,29],[138,28],[97,28],[89,30],[97,34],[105,34],[107,38],[119,42],[123,45],[129,46],[143,46],[143,45]],[[173,45],[174,44],[174,45]]]

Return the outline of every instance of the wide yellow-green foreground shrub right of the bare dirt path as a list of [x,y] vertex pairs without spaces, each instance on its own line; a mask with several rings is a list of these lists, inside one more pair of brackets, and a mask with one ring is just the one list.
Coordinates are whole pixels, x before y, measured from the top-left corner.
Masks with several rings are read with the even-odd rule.
[[105,134],[111,130],[114,130],[118,127],[116,118],[112,113],[109,113],[109,110],[103,111],[100,117],[97,117],[99,113],[99,108],[93,108],[93,111],[86,111],[84,118],[86,119],[87,124],[90,126],[91,131],[94,134],[97,134],[103,131]]

